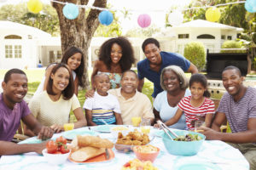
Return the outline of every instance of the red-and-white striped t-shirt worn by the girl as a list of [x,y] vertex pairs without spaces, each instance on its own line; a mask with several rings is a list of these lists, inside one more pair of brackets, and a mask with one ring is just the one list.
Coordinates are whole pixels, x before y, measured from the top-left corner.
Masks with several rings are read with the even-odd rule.
[[194,107],[190,104],[190,99],[191,96],[183,97],[183,99],[180,100],[177,106],[180,110],[184,111],[187,127],[189,127],[189,129],[194,129],[195,127],[191,125],[191,122],[193,120],[198,120],[198,118],[196,118],[195,116],[214,114],[215,106],[212,99],[205,98],[205,101],[201,106]]

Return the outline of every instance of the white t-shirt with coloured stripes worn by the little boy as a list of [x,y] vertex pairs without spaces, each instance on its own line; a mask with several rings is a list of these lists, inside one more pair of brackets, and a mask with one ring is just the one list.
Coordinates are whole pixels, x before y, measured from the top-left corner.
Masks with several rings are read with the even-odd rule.
[[84,101],[84,109],[92,111],[92,122],[102,125],[103,119],[108,124],[116,122],[113,112],[121,113],[118,99],[112,94],[102,96],[97,92],[93,98],[87,98]]

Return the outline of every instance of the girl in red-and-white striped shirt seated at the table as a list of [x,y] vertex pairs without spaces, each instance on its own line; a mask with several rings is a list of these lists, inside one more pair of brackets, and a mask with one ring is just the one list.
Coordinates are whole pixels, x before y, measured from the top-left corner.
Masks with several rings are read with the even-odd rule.
[[210,93],[207,91],[207,77],[202,74],[192,75],[189,80],[189,89],[191,96],[181,99],[177,105],[178,109],[175,116],[165,122],[166,125],[170,126],[176,123],[184,112],[189,130],[194,130],[193,122],[199,120],[200,116],[205,116],[205,125],[210,127],[214,114],[214,103],[208,99]]

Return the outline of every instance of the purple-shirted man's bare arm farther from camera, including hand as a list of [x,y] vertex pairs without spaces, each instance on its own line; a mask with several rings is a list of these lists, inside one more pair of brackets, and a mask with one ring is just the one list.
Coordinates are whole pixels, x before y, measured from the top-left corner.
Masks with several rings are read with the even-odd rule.
[[32,114],[23,117],[22,121],[32,130],[33,133],[38,135],[38,139],[49,139],[54,133],[51,128],[42,126]]

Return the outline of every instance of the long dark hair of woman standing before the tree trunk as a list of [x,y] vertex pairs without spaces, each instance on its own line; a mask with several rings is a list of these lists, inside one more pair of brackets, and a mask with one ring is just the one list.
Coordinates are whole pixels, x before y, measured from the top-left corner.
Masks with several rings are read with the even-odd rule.
[[79,78],[79,86],[84,87],[84,83],[82,81],[83,75],[84,75],[84,54],[81,51],[81,49],[76,48],[76,47],[71,47],[71,48],[67,48],[67,50],[64,52],[63,57],[61,59],[61,63],[65,63],[67,64],[67,60],[73,56],[73,54],[81,54],[81,64],[79,65],[79,67],[74,70],[75,73],[77,74],[77,77]]

